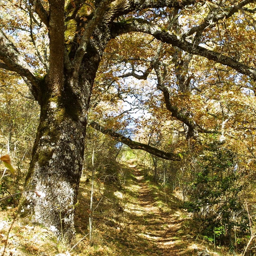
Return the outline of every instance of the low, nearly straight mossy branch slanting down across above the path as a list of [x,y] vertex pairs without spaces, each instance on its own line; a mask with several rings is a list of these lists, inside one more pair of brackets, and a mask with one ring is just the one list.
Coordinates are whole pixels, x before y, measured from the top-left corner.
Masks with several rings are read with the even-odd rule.
[[105,129],[103,127],[101,127],[98,123],[96,122],[91,122],[90,126],[92,126],[94,129],[109,135],[110,137],[112,137],[113,139],[122,142],[123,144],[129,146],[132,149],[140,149],[140,150],[144,150],[152,155],[161,157],[163,159],[167,159],[167,160],[173,160],[173,161],[180,161],[182,160],[182,155],[181,154],[174,154],[174,153],[169,153],[169,152],[164,152],[162,150],[159,150],[157,148],[151,147],[147,144],[144,143],[140,143],[140,142],[136,142],[131,140],[130,138],[127,138],[119,133],[113,132],[110,129]]

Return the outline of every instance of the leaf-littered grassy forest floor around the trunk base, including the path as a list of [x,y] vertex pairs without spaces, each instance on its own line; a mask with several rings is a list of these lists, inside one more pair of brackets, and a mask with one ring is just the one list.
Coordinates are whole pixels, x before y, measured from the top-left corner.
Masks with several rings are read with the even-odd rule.
[[[188,216],[180,200],[144,179],[136,161],[123,164],[120,186],[95,177],[93,233],[88,236],[91,182],[81,180],[74,246],[57,241],[42,226],[14,220],[15,209],[0,213],[0,255],[41,256],[196,256],[209,252],[188,233]],[[200,254],[200,252],[203,252]],[[4,254],[3,254],[4,253]]]

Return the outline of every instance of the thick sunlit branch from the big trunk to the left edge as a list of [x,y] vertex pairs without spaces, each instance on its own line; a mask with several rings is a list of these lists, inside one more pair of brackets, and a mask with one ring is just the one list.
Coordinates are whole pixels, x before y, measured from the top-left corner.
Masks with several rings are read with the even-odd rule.
[[19,53],[13,43],[6,37],[2,30],[0,30],[0,59],[4,63],[0,63],[0,67],[14,71],[22,77],[26,77],[32,84],[31,92],[34,94],[38,89],[39,79],[34,75],[34,71],[24,57]]

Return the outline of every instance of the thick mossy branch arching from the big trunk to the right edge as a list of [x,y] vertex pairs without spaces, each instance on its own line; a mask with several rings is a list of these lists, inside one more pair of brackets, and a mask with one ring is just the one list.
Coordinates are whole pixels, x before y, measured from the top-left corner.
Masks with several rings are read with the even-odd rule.
[[244,65],[241,62],[238,62],[234,58],[222,55],[219,52],[208,50],[204,47],[196,46],[190,42],[181,40],[176,35],[173,35],[170,31],[163,30],[143,19],[130,19],[124,22],[113,23],[113,31],[114,31],[114,33],[112,34],[113,37],[116,37],[120,34],[124,34],[128,32],[142,32],[142,33],[150,34],[154,36],[156,39],[161,40],[162,42],[171,44],[173,46],[177,46],[186,52],[189,52],[194,55],[199,55],[209,60],[214,60],[220,64],[229,66],[237,70],[238,72],[251,77],[254,81],[256,81],[255,69],[248,67],[247,65]]

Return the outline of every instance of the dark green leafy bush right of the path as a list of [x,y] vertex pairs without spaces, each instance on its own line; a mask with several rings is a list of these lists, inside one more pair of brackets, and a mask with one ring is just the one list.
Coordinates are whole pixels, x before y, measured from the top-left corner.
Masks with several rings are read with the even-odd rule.
[[197,170],[190,183],[188,201],[183,207],[194,212],[201,233],[216,241],[229,241],[249,232],[248,213],[244,205],[246,181],[236,153],[224,142],[208,144],[197,159]]

